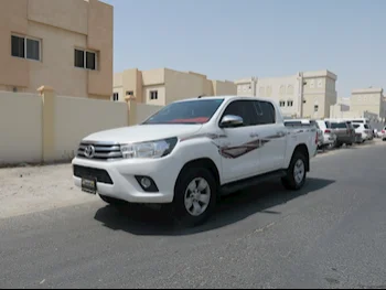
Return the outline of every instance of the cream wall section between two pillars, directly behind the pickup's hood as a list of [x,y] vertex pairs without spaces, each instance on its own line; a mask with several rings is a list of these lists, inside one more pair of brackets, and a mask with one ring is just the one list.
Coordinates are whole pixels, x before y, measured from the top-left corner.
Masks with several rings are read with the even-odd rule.
[[79,141],[93,132],[128,125],[125,103],[58,96],[54,112],[55,160],[68,160]]

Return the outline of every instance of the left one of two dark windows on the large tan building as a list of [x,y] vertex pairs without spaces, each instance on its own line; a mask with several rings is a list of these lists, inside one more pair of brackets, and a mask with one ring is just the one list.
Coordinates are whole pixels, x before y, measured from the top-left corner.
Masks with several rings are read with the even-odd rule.
[[11,36],[11,53],[14,57],[21,57],[26,60],[40,61],[40,46],[39,40],[33,40],[26,36]]

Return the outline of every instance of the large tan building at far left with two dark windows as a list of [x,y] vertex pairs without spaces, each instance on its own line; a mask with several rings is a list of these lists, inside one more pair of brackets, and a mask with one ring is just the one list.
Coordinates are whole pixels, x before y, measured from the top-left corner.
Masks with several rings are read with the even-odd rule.
[[1,0],[0,90],[109,99],[112,7],[98,0]]

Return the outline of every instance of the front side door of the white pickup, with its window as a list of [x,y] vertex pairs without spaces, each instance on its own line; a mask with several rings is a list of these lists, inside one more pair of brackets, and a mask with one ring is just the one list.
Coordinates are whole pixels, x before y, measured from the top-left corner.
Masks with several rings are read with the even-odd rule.
[[219,142],[224,182],[247,179],[259,173],[258,148],[260,140],[256,135],[257,116],[254,100],[234,100],[224,110],[224,116],[239,116],[244,125],[236,128],[224,128],[225,137]]

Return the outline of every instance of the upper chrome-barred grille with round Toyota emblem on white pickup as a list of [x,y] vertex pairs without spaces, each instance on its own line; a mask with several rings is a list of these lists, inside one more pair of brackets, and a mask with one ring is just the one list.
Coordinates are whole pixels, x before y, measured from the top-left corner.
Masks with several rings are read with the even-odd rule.
[[[86,154],[88,150],[88,155]],[[79,144],[77,157],[111,161],[122,159],[120,144],[112,142],[82,142]]]

